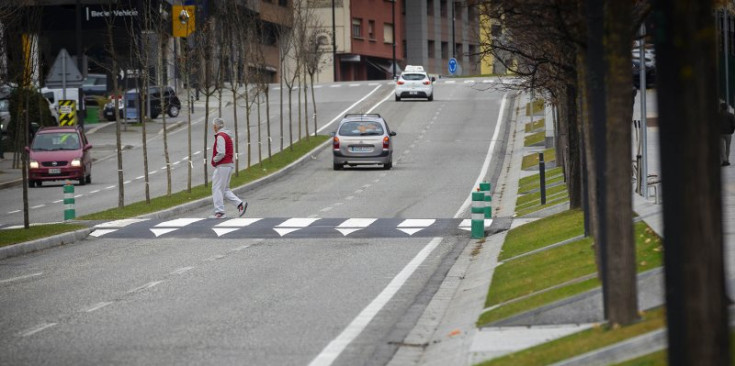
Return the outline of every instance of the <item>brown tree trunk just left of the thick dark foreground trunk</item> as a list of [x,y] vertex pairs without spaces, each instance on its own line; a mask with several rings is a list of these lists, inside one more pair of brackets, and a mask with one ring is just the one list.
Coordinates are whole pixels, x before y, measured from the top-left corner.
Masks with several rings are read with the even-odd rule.
[[605,194],[608,320],[630,324],[638,319],[635,242],[633,240],[633,194],[630,181],[630,2],[607,0],[605,7],[605,47],[607,104]]

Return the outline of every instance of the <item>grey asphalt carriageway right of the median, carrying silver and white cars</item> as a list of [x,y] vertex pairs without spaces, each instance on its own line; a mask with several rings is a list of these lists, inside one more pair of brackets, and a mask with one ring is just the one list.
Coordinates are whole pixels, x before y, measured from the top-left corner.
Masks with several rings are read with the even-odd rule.
[[[334,171],[324,149],[243,194],[248,218],[311,219],[290,221],[296,230],[215,236],[221,221],[202,208],[175,232],[136,223],[129,235],[0,261],[0,364],[386,364],[469,233],[310,236],[294,223],[469,217],[478,176],[501,163],[487,159],[493,136],[504,138],[502,93],[478,85],[438,83],[433,102],[395,102],[387,88],[368,98],[360,108],[375,106],[398,132],[390,171]],[[329,103],[346,108],[370,90]]]

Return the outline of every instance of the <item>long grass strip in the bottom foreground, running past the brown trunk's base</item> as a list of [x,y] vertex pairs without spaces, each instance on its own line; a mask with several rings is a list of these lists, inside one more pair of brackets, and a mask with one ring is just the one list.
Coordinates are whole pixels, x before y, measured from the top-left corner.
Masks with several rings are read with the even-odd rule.
[[480,366],[549,365],[625,339],[661,329],[666,322],[663,308],[642,314],[641,319],[624,327],[598,326],[504,357],[483,362]]

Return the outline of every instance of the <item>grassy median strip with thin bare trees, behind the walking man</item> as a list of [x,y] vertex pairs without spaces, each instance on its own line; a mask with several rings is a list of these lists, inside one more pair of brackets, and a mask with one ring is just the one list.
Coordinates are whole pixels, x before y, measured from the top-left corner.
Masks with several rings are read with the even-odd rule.
[[[239,187],[243,184],[260,179],[267,175],[273,174],[283,167],[291,164],[301,156],[307,154],[315,147],[326,141],[329,137],[320,135],[312,136],[309,141],[302,139],[293,144],[292,149],[285,149],[282,152],[273,155],[272,159],[264,159],[263,164],[255,164],[250,168],[241,169],[239,176],[232,176],[230,186]],[[135,217],[151,212],[160,211],[170,207],[178,206],[184,203],[192,202],[212,194],[210,187],[199,185],[192,187],[191,192],[181,191],[173,193],[170,196],[161,196],[151,199],[150,203],[145,201],[135,202],[125,206],[124,208],[113,208],[89,215],[79,217],[79,220],[119,220]]]

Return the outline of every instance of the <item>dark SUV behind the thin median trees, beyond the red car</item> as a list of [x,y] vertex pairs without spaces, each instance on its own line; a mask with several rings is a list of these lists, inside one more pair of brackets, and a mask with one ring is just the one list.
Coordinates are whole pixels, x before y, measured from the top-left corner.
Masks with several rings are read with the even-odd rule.
[[[163,88],[163,98],[161,97],[161,88],[157,86],[151,86],[148,88],[149,99],[150,99],[150,111],[148,116],[150,118],[158,118],[163,112],[162,101],[166,105],[166,113],[169,117],[177,117],[181,111],[181,101],[176,96],[174,88],[166,86]],[[119,103],[118,113],[121,117],[126,119],[138,119],[138,89],[130,89],[125,92],[125,96],[122,103]],[[103,115],[108,121],[115,120],[115,101],[105,105]],[[125,114],[125,115],[124,115]]]

